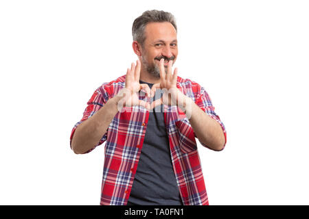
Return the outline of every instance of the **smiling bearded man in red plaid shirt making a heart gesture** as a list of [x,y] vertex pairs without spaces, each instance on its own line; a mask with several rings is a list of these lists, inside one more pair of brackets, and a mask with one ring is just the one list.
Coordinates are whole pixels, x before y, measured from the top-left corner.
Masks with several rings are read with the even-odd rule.
[[75,153],[106,141],[101,205],[208,205],[195,138],[221,151],[226,132],[204,88],[172,72],[176,31],[168,12],[136,18],[139,60],[95,90],[73,127]]

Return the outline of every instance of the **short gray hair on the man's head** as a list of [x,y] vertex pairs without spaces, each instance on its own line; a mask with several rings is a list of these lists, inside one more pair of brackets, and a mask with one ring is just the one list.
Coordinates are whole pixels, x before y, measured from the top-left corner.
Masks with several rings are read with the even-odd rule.
[[177,31],[176,20],[174,15],[172,15],[170,12],[148,10],[136,18],[132,26],[133,40],[139,42],[141,46],[144,45],[144,41],[146,39],[144,34],[145,27],[148,23],[151,22],[170,22]]

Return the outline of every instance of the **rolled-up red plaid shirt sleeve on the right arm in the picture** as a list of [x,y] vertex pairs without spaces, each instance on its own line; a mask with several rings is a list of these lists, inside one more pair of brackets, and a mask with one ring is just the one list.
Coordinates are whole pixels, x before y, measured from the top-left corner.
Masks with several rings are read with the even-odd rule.
[[[220,120],[220,117],[214,112],[214,106],[211,103],[211,99],[209,97],[209,95],[207,94],[206,90],[198,85],[198,94],[195,100],[196,105],[198,105],[198,107],[201,108],[201,110],[203,110],[208,116],[210,116],[211,118],[213,118],[214,120],[216,120],[221,128],[222,131],[225,135],[225,144],[227,144],[227,131],[225,130],[225,125],[223,125],[222,121]],[[194,136],[196,137],[195,133]],[[207,145],[203,144],[200,140],[198,140],[203,146],[209,148]],[[225,148],[225,144],[222,148],[222,150]],[[213,150],[213,149],[211,149]]]

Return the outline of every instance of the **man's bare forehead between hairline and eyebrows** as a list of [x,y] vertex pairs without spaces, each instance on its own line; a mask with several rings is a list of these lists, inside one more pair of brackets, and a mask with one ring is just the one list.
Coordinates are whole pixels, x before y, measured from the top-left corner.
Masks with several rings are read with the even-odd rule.
[[152,22],[148,23],[145,28],[146,41],[155,40],[173,41],[177,38],[176,29],[170,22]]

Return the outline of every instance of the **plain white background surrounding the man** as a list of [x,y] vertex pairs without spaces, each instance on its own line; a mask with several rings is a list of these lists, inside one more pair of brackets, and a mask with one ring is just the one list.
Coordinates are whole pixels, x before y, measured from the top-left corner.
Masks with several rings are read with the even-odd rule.
[[134,19],[172,12],[179,76],[227,128],[198,149],[211,205],[308,205],[308,1],[1,1],[0,204],[98,205],[104,146],[69,148],[93,91],[137,60]]

